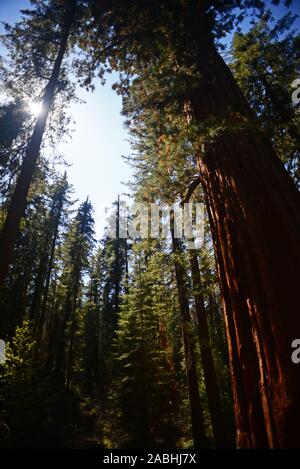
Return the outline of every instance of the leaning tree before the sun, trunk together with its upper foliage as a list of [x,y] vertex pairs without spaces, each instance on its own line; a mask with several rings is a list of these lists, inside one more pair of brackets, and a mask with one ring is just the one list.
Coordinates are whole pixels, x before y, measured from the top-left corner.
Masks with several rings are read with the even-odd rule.
[[[31,80],[28,80],[28,76],[33,71],[33,76],[37,77],[39,82],[42,79],[42,83],[44,82],[45,86],[41,90],[42,112],[36,120],[31,138],[26,147],[20,175],[1,233],[0,286],[5,281],[11,262],[20,221],[26,208],[30,183],[32,182],[40,153],[48,115],[53,106],[55,93],[63,84],[62,80],[66,78],[63,59],[68,51],[71,31],[76,34],[76,28],[74,30],[76,15],[78,13],[76,6],[76,0],[69,0],[66,5],[56,0],[49,2],[40,0],[35,2],[36,8],[34,10],[24,12],[26,17],[20,24],[17,24],[14,28],[6,26],[8,31],[6,44],[9,47],[10,56],[14,63],[15,75],[18,76],[23,71],[23,76],[25,75],[26,85],[28,86],[31,82]],[[29,56],[28,47],[32,51]],[[47,73],[49,73],[49,76],[45,84],[45,75],[47,76]]]

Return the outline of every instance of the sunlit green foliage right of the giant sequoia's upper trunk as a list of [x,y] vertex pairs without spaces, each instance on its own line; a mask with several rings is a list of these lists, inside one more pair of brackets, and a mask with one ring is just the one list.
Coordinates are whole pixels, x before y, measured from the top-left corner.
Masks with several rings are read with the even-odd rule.
[[247,33],[236,33],[231,68],[277,155],[299,186],[300,114],[291,84],[300,70],[300,36],[290,13],[274,22],[271,13]]

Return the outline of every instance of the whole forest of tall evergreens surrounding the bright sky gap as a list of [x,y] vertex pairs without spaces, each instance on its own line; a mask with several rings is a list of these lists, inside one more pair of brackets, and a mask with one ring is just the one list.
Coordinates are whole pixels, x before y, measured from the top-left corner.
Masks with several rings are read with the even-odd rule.
[[[300,447],[300,35],[276,3],[31,0],[4,25],[0,448]],[[132,200],[203,203],[200,247],[172,213],[118,236],[120,197],[98,240],[76,200],[55,149],[112,72]]]

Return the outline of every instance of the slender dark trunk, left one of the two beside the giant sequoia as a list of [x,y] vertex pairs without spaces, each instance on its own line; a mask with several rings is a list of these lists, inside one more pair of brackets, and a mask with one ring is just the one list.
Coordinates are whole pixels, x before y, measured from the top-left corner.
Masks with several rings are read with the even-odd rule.
[[[171,233],[173,251],[176,256],[180,256],[181,249],[177,238],[174,237],[173,222],[171,220]],[[191,335],[191,316],[186,288],[186,279],[183,266],[180,260],[175,258],[175,275],[178,289],[179,306],[182,319],[183,345],[186,362],[187,386],[189,392],[192,432],[195,448],[206,446],[206,437],[203,422],[203,411],[201,406],[199,385],[197,377],[196,360],[194,354],[194,344]]]

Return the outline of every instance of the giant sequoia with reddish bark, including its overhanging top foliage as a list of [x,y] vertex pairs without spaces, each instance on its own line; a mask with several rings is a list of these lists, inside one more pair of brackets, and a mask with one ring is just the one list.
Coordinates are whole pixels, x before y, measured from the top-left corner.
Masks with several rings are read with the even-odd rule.
[[224,298],[237,445],[296,445],[298,375],[286,351],[300,327],[297,277],[282,272],[299,270],[299,194],[217,50],[244,8],[263,3],[105,6],[96,2],[91,76],[108,60],[123,72],[125,96],[150,77],[129,120],[158,109],[164,133],[170,121],[184,122],[193,146]]

